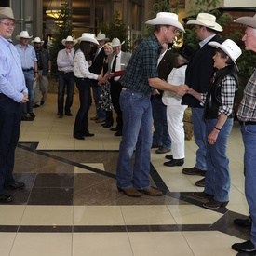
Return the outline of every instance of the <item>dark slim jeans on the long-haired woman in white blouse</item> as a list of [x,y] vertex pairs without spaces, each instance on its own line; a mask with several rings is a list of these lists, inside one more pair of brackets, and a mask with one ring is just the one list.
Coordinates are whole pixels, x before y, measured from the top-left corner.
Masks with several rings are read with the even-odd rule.
[[75,117],[73,135],[83,136],[88,133],[88,110],[91,101],[89,79],[77,79],[76,87],[79,90],[80,108]]

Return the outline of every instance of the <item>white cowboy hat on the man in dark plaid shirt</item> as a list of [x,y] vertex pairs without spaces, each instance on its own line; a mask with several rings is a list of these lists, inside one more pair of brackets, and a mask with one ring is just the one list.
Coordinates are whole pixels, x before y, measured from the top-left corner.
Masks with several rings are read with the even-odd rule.
[[158,12],[156,18],[146,21],[149,25],[169,25],[185,32],[182,24],[178,21],[178,15],[172,12]]

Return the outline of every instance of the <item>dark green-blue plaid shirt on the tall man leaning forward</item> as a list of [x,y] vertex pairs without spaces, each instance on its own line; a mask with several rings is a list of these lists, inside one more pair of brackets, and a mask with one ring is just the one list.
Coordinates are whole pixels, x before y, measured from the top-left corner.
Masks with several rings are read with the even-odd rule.
[[121,78],[122,86],[136,92],[151,93],[154,88],[149,86],[148,79],[158,77],[157,60],[161,48],[155,34],[144,39],[128,62]]

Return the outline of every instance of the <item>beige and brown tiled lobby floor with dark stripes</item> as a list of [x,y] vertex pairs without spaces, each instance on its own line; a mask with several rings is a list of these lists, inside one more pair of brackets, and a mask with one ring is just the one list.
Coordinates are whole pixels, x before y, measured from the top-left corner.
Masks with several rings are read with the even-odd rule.
[[[74,116],[56,115],[55,94],[21,124],[15,176],[26,182],[15,200],[0,205],[1,256],[234,256],[249,231],[234,226],[248,214],[244,196],[243,143],[235,124],[228,145],[232,188],[226,209],[204,209],[191,192],[202,177],[163,166],[152,150],[152,185],[161,197],[130,198],[116,190],[120,137],[89,123],[94,137],[72,136]],[[73,114],[78,107],[74,96]],[[94,106],[90,116],[95,115]],[[194,141],[186,141],[184,167],[195,165]]]

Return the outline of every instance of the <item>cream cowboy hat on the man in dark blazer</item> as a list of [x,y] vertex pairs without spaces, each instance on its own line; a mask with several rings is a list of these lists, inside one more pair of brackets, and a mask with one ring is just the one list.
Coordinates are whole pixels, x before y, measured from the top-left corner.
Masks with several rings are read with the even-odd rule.
[[187,24],[199,25],[215,31],[223,31],[222,26],[216,22],[216,17],[209,13],[199,13],[196,20],[188,20]]

